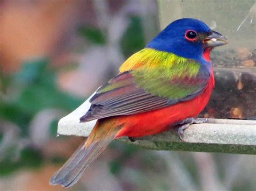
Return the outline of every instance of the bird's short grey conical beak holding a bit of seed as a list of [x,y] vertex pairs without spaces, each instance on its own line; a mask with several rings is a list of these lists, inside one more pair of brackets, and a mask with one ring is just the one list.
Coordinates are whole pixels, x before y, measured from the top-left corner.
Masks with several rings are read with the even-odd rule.
[[205,48],[222,46],[227,43],[228,43],[227,38],[216,31],[211,31],[210,35],[203,40],[203,44]]

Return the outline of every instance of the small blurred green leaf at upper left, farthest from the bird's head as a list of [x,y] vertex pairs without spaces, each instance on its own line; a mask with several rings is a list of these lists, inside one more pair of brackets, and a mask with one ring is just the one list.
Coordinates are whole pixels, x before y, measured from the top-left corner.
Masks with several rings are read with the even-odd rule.
[[106,39],[103,33],[96,27],[84,26],[84,27],[80,27],[77,31],[81,37],[91,41],[91,43],[100,44],[100,45],[106,43]]

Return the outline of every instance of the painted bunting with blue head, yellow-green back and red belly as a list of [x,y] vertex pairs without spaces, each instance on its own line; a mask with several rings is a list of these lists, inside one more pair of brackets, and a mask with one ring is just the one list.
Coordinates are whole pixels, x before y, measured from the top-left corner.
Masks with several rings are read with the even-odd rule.
[[[70,187],[113,140],[153,135],[179,126],[178,135],[207,104],[214,88],[210,51],[227,39],[197,19],[174,21],[97,89],[80,122],[98,119],[87,140],[52,176]],[[182,139],[182,138],[181,138]]]

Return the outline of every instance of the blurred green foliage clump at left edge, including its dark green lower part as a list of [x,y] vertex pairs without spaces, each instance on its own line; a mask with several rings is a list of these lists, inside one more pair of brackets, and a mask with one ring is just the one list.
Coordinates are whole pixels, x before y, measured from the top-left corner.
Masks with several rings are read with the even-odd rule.
[[21,70],[10,78],[9,86],[16,90],[15,95],[0,100],[0,118],[18,125],[22,134],[28,133],[29,123],[38,111],[45,108],[72,111],[83,102],[56,87],[56,71],[48,66],[47,59],[24,62]]

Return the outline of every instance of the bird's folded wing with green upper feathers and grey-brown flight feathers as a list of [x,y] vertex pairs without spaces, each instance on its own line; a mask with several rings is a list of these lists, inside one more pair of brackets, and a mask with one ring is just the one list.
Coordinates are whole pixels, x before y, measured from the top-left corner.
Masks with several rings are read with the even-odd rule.
[[[188,69],[185,70],[188,72]],[[80,121],[132,115],[167,107],[196,97],[207,83],[207,77],[200,77],[201,74],[184,77],[180,74],[172,77],[168,75],[161,69],[139,69],[119,74],[96,91],[90,100],[91,108]]]

